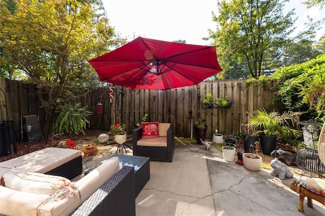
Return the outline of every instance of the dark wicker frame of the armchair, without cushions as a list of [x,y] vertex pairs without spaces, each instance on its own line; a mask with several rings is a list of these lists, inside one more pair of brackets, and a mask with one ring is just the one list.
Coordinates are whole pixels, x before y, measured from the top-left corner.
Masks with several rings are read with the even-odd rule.
[[167,147],[138,146],[142,137],[142,127],[133,130],[133,155],[149,157],[151,161],[172,162],[175,151],[174,126],[167,130]]

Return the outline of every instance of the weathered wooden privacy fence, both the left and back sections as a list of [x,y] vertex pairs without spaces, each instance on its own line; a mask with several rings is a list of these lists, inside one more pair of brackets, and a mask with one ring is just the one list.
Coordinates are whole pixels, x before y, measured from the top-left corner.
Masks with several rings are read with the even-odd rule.
[[[36,95],[35,85],[4,79],[0,79],[0,84],[0,89],[6,94],[5,100],[5,94],[0,91],[1,120],[8,111],[9,120],[14,120],[18,139],[21,139],[22,116],[38,115],[41,127],[44,126],[46,116]],[[245,123],[249,113],[258,107],[273,108],[273,86],[274,81],[262,85],[259,82],[246,84],[246,80],[225,80],[165,91],[114,87],[113,103],[110,102],[109,88],[99,87],[80,95],[76,102],[81,102],[82,106],[87,106],[87,110],[93,112],[87,128],[108,131],[111,124],[119,123],[123,118],[127,132],[131,134],[142,113],[146,112],[150,114],[149,121],[175,125],[175,135],[178,137],[194,137],[191,134],[194,122],[199,118],[204,119],[208,126],[207,137],[211,138],[211,132],[215,129],[223,134],[244,133],[241,124]],[[203,109],[200,101],[207,93],[212,93],[213,98],[226,96],[234,103],[230,109]],[[103,104],[103,114],[96,113],[99,101]]]

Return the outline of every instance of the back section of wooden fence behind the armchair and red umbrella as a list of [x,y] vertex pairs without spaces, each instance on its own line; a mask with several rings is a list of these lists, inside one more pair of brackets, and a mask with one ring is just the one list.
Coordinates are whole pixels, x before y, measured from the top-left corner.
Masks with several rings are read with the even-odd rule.
[[[132,133],[142,113],[146,112],[150,114],[149,121],[175,125],[175,134],[179,137],[194,136],[191,134],[194,122],[204,119],[208,126],[207,137],[211,137],[211,131],[216,129],[223,134],[244,133],[241,124],[246,123],[249,113],[258,107],[273,108],[273,86],[274,81],[262,85],[259,82],[246,84],[246,80],[226,80],[171,90],[130,90],[122,87],[117,90],[115,87],[113,103],[109,102],[108,87],[102,87],[85,94],[81,102],[94,112],[89,117],[90,128],[109,130],[111,124],[121,122],[122,118],[128,133]],[[231,109],[203,109],[200,101],[207,93],[212,93],[213,98],[228,97],[234,101]],[[95,114],[98,99],[104,105],[103,115]]]

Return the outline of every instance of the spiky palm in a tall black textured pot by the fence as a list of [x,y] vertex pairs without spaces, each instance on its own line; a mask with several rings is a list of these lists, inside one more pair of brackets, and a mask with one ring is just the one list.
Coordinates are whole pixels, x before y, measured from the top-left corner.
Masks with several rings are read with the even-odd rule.
[[248,126],[252,130],[256,130],[261,134],[259,139],[261,141],[262,152],[265,155],[271,155],[276,148],[276,140],[281,135],[292,135],[299,137],[301,131],[290,127],[299,123],[299,115],[301,112],[284,112],[280,115],[278,112],[266,112],[264,108],[256,110],[255,114],[248,116]]

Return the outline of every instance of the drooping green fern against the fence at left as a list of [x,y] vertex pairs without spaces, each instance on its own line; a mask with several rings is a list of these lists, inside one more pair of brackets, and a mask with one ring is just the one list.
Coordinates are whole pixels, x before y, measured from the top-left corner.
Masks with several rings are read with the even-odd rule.
[[85,134],[83,128],[85,126],[85,122],[89,122],[87,120],[87,116],[91,115],[91,112],[86,110],[85,107],[80,107],[80,103],[76,105],[72,104],[64,104],[60,111],[59,116],[55,122],[55,129],[59,133],[75,133],[78,134],[82,132]]

